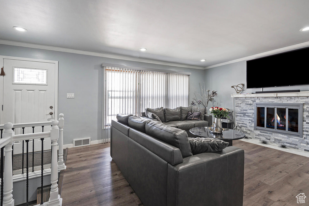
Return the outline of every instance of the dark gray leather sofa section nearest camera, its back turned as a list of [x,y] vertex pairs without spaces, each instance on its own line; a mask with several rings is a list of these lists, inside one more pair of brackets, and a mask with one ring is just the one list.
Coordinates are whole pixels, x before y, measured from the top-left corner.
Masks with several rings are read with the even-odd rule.
[[244,151],[192,155],[184,130],[132,115],[111,126],[111,157],[145,206],[243,205]]

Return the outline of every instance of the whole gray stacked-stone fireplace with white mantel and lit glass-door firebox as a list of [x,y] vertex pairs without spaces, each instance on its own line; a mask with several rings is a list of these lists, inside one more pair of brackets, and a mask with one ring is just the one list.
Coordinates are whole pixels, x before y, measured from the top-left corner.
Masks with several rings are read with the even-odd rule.
[[249,138],[309,151],[309,92],[232,94],[235,123]]

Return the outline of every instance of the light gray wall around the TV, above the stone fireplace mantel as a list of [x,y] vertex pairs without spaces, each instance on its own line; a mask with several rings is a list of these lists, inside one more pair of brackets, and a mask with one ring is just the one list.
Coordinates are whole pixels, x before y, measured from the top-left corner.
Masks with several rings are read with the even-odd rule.
[[[299,77],[290,77],[299,78]],[[287,79],[288,81],[288,79]],[[218,95],[214,102],[210,102],[208,108],[212,106],[225,107],[233,109],[233,98],[231,94],[235,94],[235,89],[231,88],[233,85],[243,83],[244,90],[241,93],[250,93],[262,91],[262,89],[246,89],[246,61],[240,61],[233,64],[226,64],[219,67],[214,67],[205,70],[205,85],[211,90],[218,90]],[[308,85],[290,86],[290,87],[269,87],[263,88],[263,91],[274,90],[290,90],[300,89],[301,91],[309,91]]]

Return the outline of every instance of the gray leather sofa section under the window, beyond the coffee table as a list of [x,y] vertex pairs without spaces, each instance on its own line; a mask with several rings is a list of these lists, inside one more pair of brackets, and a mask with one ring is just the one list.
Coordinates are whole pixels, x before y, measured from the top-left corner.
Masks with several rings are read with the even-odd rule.
[[[180,110],[180,112],[178,113],[179,118],[175,117],[176,115],[173,113],[175,113],[172,110],[178,109]],[[178,107],[175,109],[163,109],[163,107],[161,108],[156,108],[156,109],[150,109],[147,108],[145,112],[142,112],[142,117],[146,117],[149,119],[153,119],[148,117],[147,112],[153,112],[155,114],[157,114],[162,123],[167,125],[167,126],[171,126],[171,127],[175,127],[181,130],[185,130],[188,134],[189,137],[193,137],[194,135],[191,134],[189,132],[189,130],[193,127],[208,127],[212,125],[212,115],[207,115],[204,114],[204,120],[187,120],[187,115],[188,112],[192,112],[192,106],[189,107]],[[173,119],[177,119],[176,121]],[[172,121],[169,121],[172,120]]]

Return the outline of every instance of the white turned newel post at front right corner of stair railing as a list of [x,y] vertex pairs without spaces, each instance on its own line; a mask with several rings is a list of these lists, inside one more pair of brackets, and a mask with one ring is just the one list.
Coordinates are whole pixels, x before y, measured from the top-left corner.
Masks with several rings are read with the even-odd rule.
[[48,201],[49,206],[61,206],[62,198],[58,192],[58,163],[57,163],[57,141],[59,138],[58,121],[52,121],[52,128],[50,129],[50,140],[52,141],[52,163],[50,174],[50,197]]

